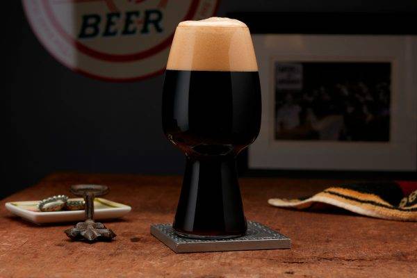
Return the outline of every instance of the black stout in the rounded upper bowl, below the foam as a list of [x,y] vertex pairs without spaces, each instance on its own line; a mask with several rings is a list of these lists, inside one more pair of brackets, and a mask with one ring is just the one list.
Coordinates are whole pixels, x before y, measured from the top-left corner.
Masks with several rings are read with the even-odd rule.
[[259,132],[258,72],[167,70],[162,111],[165,134],[178,147],[236,155]]

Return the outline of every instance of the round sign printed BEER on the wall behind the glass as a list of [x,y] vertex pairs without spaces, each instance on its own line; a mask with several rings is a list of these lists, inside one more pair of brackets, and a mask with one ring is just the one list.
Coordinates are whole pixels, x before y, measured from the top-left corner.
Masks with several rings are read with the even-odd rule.
[[60,63],[92,78],[161,74],[177,24],[211,17],[218,0],[22,0],[28,22]]

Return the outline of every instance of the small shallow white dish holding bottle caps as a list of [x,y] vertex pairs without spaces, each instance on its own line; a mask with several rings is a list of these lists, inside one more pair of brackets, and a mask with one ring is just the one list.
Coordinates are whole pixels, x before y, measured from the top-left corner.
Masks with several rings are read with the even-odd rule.
[[[80,198],[71,199],[80,200]],[[42,212],[38,210],[39,201],[8,202],[6,208],[11,213],[35,224],[56,222],[75,222],[84,220],[84,211],[54,211]],[[95,220],[121,218],[131,211],[131,207],[104,198],[94,200]]]

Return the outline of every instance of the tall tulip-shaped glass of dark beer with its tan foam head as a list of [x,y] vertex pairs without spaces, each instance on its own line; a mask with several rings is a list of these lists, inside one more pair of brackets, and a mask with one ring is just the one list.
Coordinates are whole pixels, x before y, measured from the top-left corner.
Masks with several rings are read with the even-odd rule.
[[163,130],[186,154],[173,229],[190,238],[245,234],[236,156],[261,126],[252,39],[236,19],[181,22],[163,87]]

